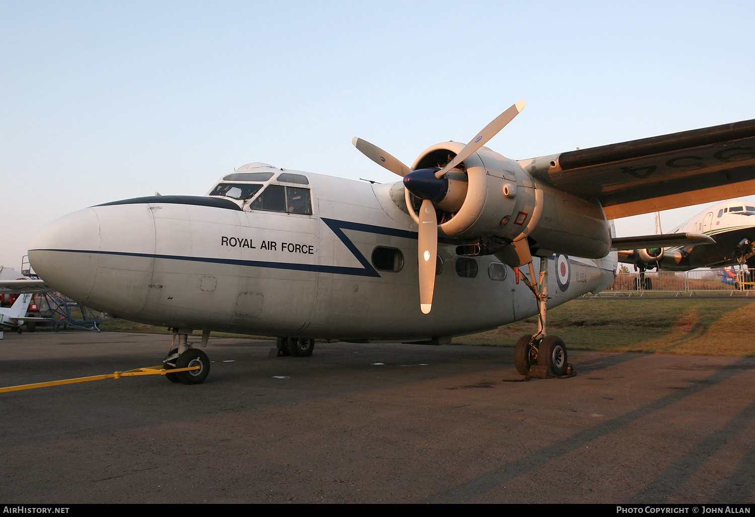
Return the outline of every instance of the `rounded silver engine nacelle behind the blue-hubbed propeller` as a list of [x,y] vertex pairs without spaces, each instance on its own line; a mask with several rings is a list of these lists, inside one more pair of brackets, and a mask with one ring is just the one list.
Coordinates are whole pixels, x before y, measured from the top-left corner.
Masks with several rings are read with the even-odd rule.
[[[413,168],[442,166],[463,148],[458,142],[438,143],[423,152]],[[599,205],[537,185],[519,163],[487,147],[464,160],[464,167],[466,178],[448,174],[449,180],[461,177],[468,184],[461,208],[439,224],[442,235],[501,242],[528,238],[532,252],[540,255],[601,258],[609,253],[609,223]]]

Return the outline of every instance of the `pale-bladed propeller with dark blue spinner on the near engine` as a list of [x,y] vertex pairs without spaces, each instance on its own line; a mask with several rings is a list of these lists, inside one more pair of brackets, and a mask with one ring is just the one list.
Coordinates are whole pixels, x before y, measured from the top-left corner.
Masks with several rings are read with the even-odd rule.
[[430,312],[433,306],[436,255],[438,252],[438,220],[433,204],[441,203],[446,192],[448,192],[449,180],[444,176],[448,171],[473,155],[485,143],[488,143],[488,140],[495,137],[498,131],[501,131],[516,115],[519,115],[524,106],[524,100],[519,100],[518,103],[498,115],[443,168],[432,167],[412,171],[411,168],[408,168],[380,147],[357,137],[351,140],[356,149],[359,149],[377,165],[381,165],[393,174],[403,177],[405,189],[422,199],[417,254],[419,260],[420,309],[424,314]]

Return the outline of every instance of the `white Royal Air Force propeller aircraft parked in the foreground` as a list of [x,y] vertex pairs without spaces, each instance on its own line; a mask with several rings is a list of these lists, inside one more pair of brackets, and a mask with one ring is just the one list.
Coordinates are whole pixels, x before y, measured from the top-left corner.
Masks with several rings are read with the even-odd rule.
[[[431,146],[411,167],[355,138],[396,183],[247,164],[205,196],[61,217],[35,235],[29,260],[91,308],[174,328],[179,346],[165,364],[199,366],[168,374],[176,382],[209,371],[187,341],[193,329],[203,343],[210,331],[275,335],[283,352],[310,355],[314,338],[448,343],[532,315],[538,332],[517,343],[516,368],[565,374],[547,307],[612,283],[609,220],[755,192],[755,121],[517,162],[485,143],[523,107],[467,145]],[[664,245],[701,238],[670,235]]]

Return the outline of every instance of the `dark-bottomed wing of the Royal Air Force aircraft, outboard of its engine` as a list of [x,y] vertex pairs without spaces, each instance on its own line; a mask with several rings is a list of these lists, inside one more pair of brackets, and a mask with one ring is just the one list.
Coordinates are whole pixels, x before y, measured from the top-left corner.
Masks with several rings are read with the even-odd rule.
[[519,162],[616,219],[755,193],[755,120]]

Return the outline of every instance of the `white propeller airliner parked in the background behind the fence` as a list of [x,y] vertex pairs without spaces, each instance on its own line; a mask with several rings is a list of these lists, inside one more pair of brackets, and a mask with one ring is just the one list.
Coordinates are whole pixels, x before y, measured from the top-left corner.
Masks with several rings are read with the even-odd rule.
[[[733,199],[717,203],[701,211],[692,219],[677,226],[673,232],[707,235],[704,246],[688,244],[663,248],[652,244],[648,248],[618,252],[618,260],[634,264],[640,275],[647,269],[658,271],[688,271],[698,267],[744,266],[755,268],[755,203],[747,199]],[[661,234],[660,229],[658,231]],[[662,242],[664,235],[656,235]],[[615,241],[618,239],[615,239]],[[643,282],[643,285],[649,285]]]

